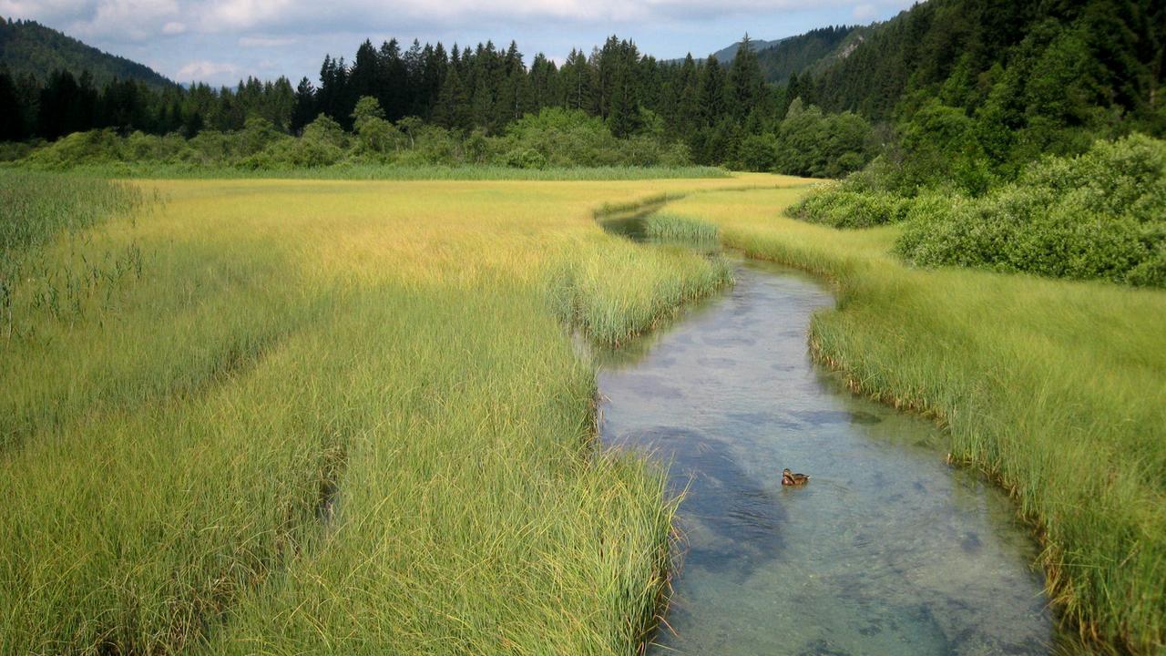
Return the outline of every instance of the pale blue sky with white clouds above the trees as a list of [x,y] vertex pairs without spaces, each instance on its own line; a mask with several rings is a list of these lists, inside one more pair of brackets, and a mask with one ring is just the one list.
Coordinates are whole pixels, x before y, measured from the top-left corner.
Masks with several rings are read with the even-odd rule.
[[33,19],[178,82],[240,77],[312,81],[325,53],[352,58],[365,39],[447,48],[492,39],[561,61],[610,34],[660,58],[705,56],[749,32],[780,39],[869,23],[913,0],[0,0],[0,16]]

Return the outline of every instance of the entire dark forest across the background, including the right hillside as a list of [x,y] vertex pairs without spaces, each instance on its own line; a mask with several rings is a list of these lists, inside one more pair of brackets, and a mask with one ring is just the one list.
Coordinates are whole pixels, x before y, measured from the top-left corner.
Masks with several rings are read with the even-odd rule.
[[[746,37],[728,63],[659,61],[612,36],[590,51],[571,50],[561,65],[541,53],[525,57],[513,42],[447,49],[366,41],[352,60],[325,56],[316,81],[248,78],[234,89],[154,90],[128,81],[99,88],[77,70],[44,82],[0,70],[0,140],[93,128],[191,139],[243,131],[250,119],[300,135],[319,116],[352,132],[357,104],[368,97],[402,135],[372,141],[382,158],[400,152],[398,141],[414,148],[423,127],[449,145],[427,161],[473,161],[483,139],[506,135],[527,114],[567,110],[578,116],[543,125],[574,126],[590,135],[592,151],[606,144],[605,130],[653,142],[654,152],[672,153],[666,161],[829,177],[881,154],[880,170],[892,172],[883,187],[909,195],[942,182],[979,194],[1044,154],[1164,133],[1164,7],[930,0],[885,23],[822,28],[760,50]],[[538,153],[506,161],[574,161],[547,149],[554,139],[540,144]]]

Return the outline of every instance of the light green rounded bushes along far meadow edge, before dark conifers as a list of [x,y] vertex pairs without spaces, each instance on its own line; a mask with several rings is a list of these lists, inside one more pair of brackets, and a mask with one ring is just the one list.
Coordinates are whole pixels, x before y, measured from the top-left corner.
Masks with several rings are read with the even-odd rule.
[[384,118],[373,98],[353,112],[353,132],[321,114],[298,138],[280,132],[264,118],[251,118],[238,132],[203,131],[191,139],[112,130],[78,132],[28,153],[31,168],[66,170],[85,166],[163,163],[177,167],[225,167],[287,170],[335,165],[466,166],[490,165],[542,169],[561,167],[680,167],[690,163],[683,144],[662,134],[617,139],[603,119],[585,112],[545,109],[513,123],[498,137],[480,131],[447,130],[407,117]]

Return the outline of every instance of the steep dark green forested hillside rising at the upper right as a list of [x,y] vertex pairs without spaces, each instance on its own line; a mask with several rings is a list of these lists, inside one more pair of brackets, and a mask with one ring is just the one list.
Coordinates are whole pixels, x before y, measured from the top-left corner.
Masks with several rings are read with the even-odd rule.
[[1028,161],[1161,133],[1164,44],[1157,0],[930,0],[871,30],[803,96],[872,120],[955,107],[990,158]]

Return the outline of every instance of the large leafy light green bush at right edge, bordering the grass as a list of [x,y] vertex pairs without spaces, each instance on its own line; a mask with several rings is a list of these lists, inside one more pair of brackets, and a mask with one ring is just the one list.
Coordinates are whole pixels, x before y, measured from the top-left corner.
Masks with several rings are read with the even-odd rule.
[[979,198],[921,196],[897,244],[927,266],[1166,286],[1166,142],[1098,141]]

